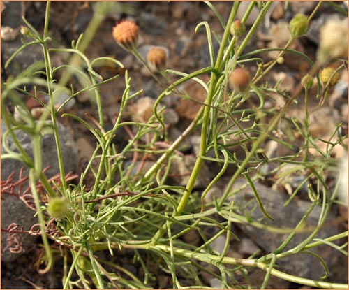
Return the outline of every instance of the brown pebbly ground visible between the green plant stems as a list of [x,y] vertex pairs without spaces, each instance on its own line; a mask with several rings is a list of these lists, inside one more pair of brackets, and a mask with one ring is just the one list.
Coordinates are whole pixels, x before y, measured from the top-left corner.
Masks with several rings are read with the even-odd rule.
[[[36,28],[38,31],[43,31],[43,21],[45,15],[45,2],[3,2],[2,3],[2,14],[1,14],[1,31],[2,31],[2,42],[1,42],[1,64],[6,62],[8,57],[17,50],[21,45],[21,36],[19,34],[20,25],[22,25],[22,16],[25,15],[27,20]],[[283,3],[274,3],[272,12],[267,15],[267,20],[260,27],[258,31],[258,37],[253,38],[251,43],[246,48],[246,51],[255,50],[258,48],[266,47],[282,47],[285,45],[283,35],[288,34],[288,22],[297,13],[304,13],[309,15],[313,8],[315,7],[315,2],[292,2],[290,3],[289,10],[283,10]],[[229,2],[217,2],[215,6],[223,18],[228,17],[230,11],[230,6],[232,4]],[[346,6],[343,6],[346,8]],[[62,45],[64,47],[69,47],[73,39],[76,39],[87,27],[91,16],[94,13],[94,3],[91,2],[59,2],[54,1],[52,3],[52,10],[50,15],[50,36],[52,37],[55,45]],[[242,13],[242,11],[240,11]],[[337,13],[332,6],[324,6],[317,16],[313,20],[311,27],[307,36],[303,37],[295,45],[295,49],[303,51],[311,59],[315,59],[315,52],[318,46],[318,31],[320,26],[325,22],[329,15]],[[241,14],[242,15],[242,14]],[[207,45],[207,38],[204,29],[200,29],[198,33],[195,33],[195,27],[199,22],[207,21],[210,24],[211,30],[217,34],[221,35],[223,29],[221,24],[216,19],[214,13],[209,9],[205,3],[201,2],[143,2],[143,3],[115,3],[115,9],[111,10],[107,15],[107,18],[103,21],[101,27],[98,28],[98,33],[94,37],[91,45],[87,49],[87,56],[89,58],[110,56],[119,59],[124,66],[129,70],[130,76],[132,78],[132,89],[137,91],[138,89],[143,89],[142,95],[135,99],[133,105],[128,108],[128,114],[137,115],[140,114],[140,110],[147,106],[152,106],[154,104],[154,99],[159,93],[163,91],[163,87],[158,85],[147,70],[144,69],[142,64],[140,64],[135,58],[128,52],[123,50],[117,45],[112,39],[112,27],[115,22],[121,20],[121,18],[127,17],[128,19],[133,19],[139,24],[140,27],[140,52],[146,51],[149,45],[162,45],[168,49],[169,60],[168,67],[177,71],[183,71],[185,73],[191,73],[198,68],[204,68],[209,66],[209,50]],[[253,23],[253,19],[249,20]],[[7,28],[5,28],[7,27]],[[3,30],[7,29],[7,30]],[[12,29],[12,30],[11,30]],[[3,31],[7,31],[4,34]],[[217,43],[215,48],[218,49]],[[274,57],[272,53],[265,53],[261,57],[265,59],[271,59]],[[33,47],[30,52],[22,52],[13,61],[13,64],[4,69],[2,67],[1,77],[2,81],[6,81],[13,75],[17,75],[20,71],[27,68],[34,61],[42,60],[43,55],[40,50],[40,46]],[[52,65],[59,66],[66,63],[64,55],[53,55]],[[257,69],[251,65],[251,73],[254,73]],[[281,87],[289,92],[290,95],[294,92],[295,87],[302,79],[302,76],[306,72],[308,67],[304,64],[304,61],[297,59],[294,55],[288,55],[285,57],[285,62],[278,65],[274,70],[267,75],[265,82],[269,82],[269,85],[274,85],[276,82],[281,81]],[[115,73],[123,73],[122,71],[115,71],[108,67],[102,67],[98,73],[103,75],[104,78],[110,78]],[[105,108],[105,124],[106,126],[112,126],[117,113],[119,112],[119,101],[121,95],[124,91],[124,86],[120,85],[119,80],[114,80],[101,86],[101,95],[103,98],[103,108]],[[203,101],[205,99],[205,92],[200,89],[200,87],[195,84],[188,85],[185,87],[186,92],[188,92],[191,97]],[[314,93],[314,92],[313,92]],[[25,99],[28,105],[30,101]],[[278,96],[275,96],[277,99]],[[327,103],[320,109],[311,112],[311,134],[315,138],[325,139],[329,138],[328,132],[332,132],[336,127],[336,124],[342,122],[342,133],[343,135],[348,134],[348,78],[347,71],[343,71],[341,76],[341,81],[331,92]],[[96,106],[90,101],[89,94],[80,95],[66,111],[73,113],[84,118],[85,113],[89,113],[91,116],[98,118],[96,112]],[[281,103],[283,100],[280,100]],[[310,107],[315,108],[318,105],[318,100],[310,99]],[[171,124],[169,134],[173,136],[173,139],[177,138],[183,128],[193,119],[195,113],[197,112],[200,105],[198,103],[193,103],[188,100],[180,99],[176,96],[172,98],[165,99],[165,106],[170,110],[168,114],[168,123]],[[297,106],[293,106],[288,115],[299,116],[299,112],[304,112],[303,110],[304,102],[299,101]],[[79,174],[91,154],[94,151],[95,140],[94,136],[89,133],[89,131],[84,128],[80,123],[75,122],[70,118],[59,118],[59,122],[63,124],[61,128],[61,136],[66,136],[66,153],[64,159],[70,161],[67,165],[66,172],[73,171],[73,173]],[[5,127],[1,127],[2,133],[6,130]],[[24,143],[30,143],[27,140],[27,136],[22,135],[21,140]],[[52,160],[50,155],[54,156],[51,152],[51,148],[54,147],[50,145],[50,142],[54,142],[53,138],[47,137],[46,148],[44,148],[44,155],[47,154],[47,164],[52,165]],[[127,142],[127,134],[120,134],[114,141],[118,146],[122,146]],[[191,136],[186,140],[186,148],[184,148],[184,161],[177,165],[179,175],[184,175],[183,171],[191,171],[191,166],[193,165],[193,159],[195,154],[198,154],[198,140],[200,138],[198,133]],[[319,143],[320,145],[320,143]],[[30,150],[30,144],[28,144]],[[269,142],[265,144],[267,150],[275,153],[275,144]],[[284,153],[285,154],[285,153]],[[334,150],[336,158],[345,157],[346,153],[339,149]],[[46,156],[46,155],[45,155]],[[14,168],[18,168],[18,164],[11,164],[9,161],[1,161],[1,180],[6,180],[8,175],[13,172]],[[57,164],[50,168],[52,175],[58,172]],[[183,169],[180,169],[183,167]],[[57,172],[54,172],[56,168]],[[202,178],[198,180],[200,182],[199,187],[205,187],[207,180],[205,177],[213,176],[212,172],[215,168],[204,168],[207,174],[203,174]],[[212,172],[210,172],[212,171]],[[300,177],[302,178],[302,176]],[[224,179],[223,179],[224,180]],[[178,184],[186,184],[186,180],[175,180]],[[267,203],[269,208],[275,208],[277,205],[282,204],[287,200],[288,190],[294,186],[292,182],[299,182],[297,180],[290,180],[288,186],[283,187],[272,187],[272,182],[269,184],[258,184],[261,198],[263,203]],[[224,182],[222,182],[223,188]],[[216,187],[216,191],[222,191],[222,188]],[[280,192],[283,191],[282,194]],[[270,198],[270,194],[274,194],[277,198]],[[22,201],[21,201],[22,202]],[[13,215],[13,212],[22,212],[23,204],[13,205],[11,200],[2,201],[2,228],[10,222],[24,223],[22,217],[17,217]],[[4,207],[6,206],[6,207]],[[297,208],[306,208],[309,204],[306,201],[299,201],[295,208],[288,208],[290,212],[297,212]],[[17,207],[17,208],[16,208]],[[299,213],[302,217],[302,213]],[[346,210],[344,208],[336,208],[331,213],[331,219],[334,221],[339,220],[336,226],[329,226],[327,230],[325,229],[323,235],[331,235],[336,231],[343,231],[346,228]],[[9,218],[10,217],[10,218]],[[344,218],[343,218],[344,217]],[[297,215],[295,216],[297,220]],[[29,219],[27,226],[30,226],[34,220]],[[6,224],[7,223],[7,224]],[[292,226],[292,221],[288,218],[280,219],[279,226]],[[239,233],[239,238],[242,242],[239,246],[232,247],[231,252],[234,256],[246,257],[251,255],[255,250],[261,249],[262,251],[268,252],[275,249],[275,240],[277,237],[271,235],[269,237],[264,236],[265,233],[262,231],[255,231],[255,229],[250,229],[248,226],[243,226],[235,229]],[[4,235],[3,235],[4,237]],[[264,238],[261,238],[264,237]],[[34,240],[34,241],[33,241]],[[61,265],[59,261],[54,267],[54,271],[48,275],[42,276],[38,275],[33,265],[33,254],[40,254],[34,251],[35,242],[40,242],[40,239],[32,238],[28,241],[28,247],[26,253],[10,254],[8,249],[6,249],[6,240],[1,240],[1,245],[3,252],[1,254],[2,268],[2,289],[31,289],[31,288],[61,288],[61,273],[59,269]],[[190,239],[188,239],[190,242]],[[224,242],[224,241],[223,241]],[[217,249],[220,249],[222,245],[217,241]],[[277,246],[276,246],[277,247]],[[7,251],[7,252],[6,252]],[[329,280],[335,282],[348,282],[348,265],[345,258],[337,255],[334,252],[322,253],[329,261],[331,276]],[[299,263],[301,261],[302,263]],[[130,262],[130,258],[127,253],[122,256],[119,263],[127,265]],[[312,277],[321,270],[316,268],[313,260],[305,259],[303,257],[297,257],[293,261],[285,260],[285,268],[295,273],[295,275],[304,275],[306,277]],[[129,265],[129,270],[134,273],[138,273],[138,269],[133,265]],[[261,279],[263,279],[264,274],[259,270],[253,270],[251,272],[251,281],[256,287],[259,287]],[[207,284],[211,284],[214,287],[214,282],[207,280]],[[166,288],[172,287],[170,284],[170,278],[163,275],[159,277],[158,284],[154,284],[155,288]],[[269,282],[268,287],[270,288],[299,288],[299,285],[292,284],[279,279],[272,278]]]

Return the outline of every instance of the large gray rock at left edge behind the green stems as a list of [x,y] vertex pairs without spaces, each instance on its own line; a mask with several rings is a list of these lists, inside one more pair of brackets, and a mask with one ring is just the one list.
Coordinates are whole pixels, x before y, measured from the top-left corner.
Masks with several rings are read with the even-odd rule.
[[[50,122],[50,121],[49,121]],[[3,133],[7,130],[5,124],[1,124],[1,132]],[[62,125],[58,124],[58,131],[61,142],[61,151],[64,160],[64,171],[66,173],[70,171],[75,171],[75,167],[77,164],[77,148],[73,141],[73,138],[70,136],[68,129]],[[31,136],[28,133],[25,133],[22,130],[15,131],[15,135],[19,140],[20,144],[24,148],[24,150],[29,154],[29,156],[33,156],[32,154],[32,144],[31,144]],[[6,144],[10,148],[17,152],[17,148],[15,143],[13,143],[12,138],[8,138],[6,140]],[[5,154],[5,150],[1,147],[2,154]],[[56,143],[54,140],[53,133],[44,133],[43,134],[43,168],[50,166],[50,168],[46,171],[46,176],[48,178],[53,175],[59,173],[59,163],[57,159],[57,149]],[[1,180],[5,181],[8,179],[9,175],[13,172],[16,174],[13,176],[13,180],[16,181],[18,175],[20,173],[20,168],[24,167],[23,176],[28,175],[28,168],[24,166],[20,161],[15,159],[1,159]],[[22,188],[22,192],[26,189],[27,184],[24,184]],[[18,194],[21,194],[19,192]],[[27,207],[24,202],[17,198],[16,196],[11,196],[8,194],[2,194],[1,196],[1,228],[7,229],[8,225],[11,223],[19,224],[23,226],[25,231],[28,231],[33,224],[38,222],[37,217],[34,217],[35,212]],[[20,238],[20,243],[22,245],[23,251],[34,247],[34,242],[36,240],[35,236],[31,235],[17,235],[16,238]],[[8,248],[6,248],[8,239],[8,233],[3,232],[1,235],[1,261],[10,262],[17,259],[18,254],[13,254],[10,252]]]

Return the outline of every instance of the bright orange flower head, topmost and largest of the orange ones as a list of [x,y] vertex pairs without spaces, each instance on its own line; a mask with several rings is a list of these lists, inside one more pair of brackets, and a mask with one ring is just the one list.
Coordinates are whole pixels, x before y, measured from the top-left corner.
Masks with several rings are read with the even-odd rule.
[[134,48],[138,44],[139,27],[135,22],[124,20],[112,28],[112,36],[126,50]]

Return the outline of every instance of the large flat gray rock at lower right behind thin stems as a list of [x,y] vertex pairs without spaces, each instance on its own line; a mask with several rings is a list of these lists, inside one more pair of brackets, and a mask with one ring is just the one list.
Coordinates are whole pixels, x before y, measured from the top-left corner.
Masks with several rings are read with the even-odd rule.
[[[266,210],[266,212],[272,216],[274,221],[267,219],[258,207],[253,192],[250,187],[239,189],[246,180],[237,180],[235,187],[232,191],[237,191],[237,194],[231,197],[232,201],[235,201],[237,208],[241,208],[240,214],[248,216],[255,222],[260,222],[268,226],[274,226],[279,229],[293,229],[296,224],[302,219],[306,210],[311,206],[308,201],[302,201],[294,198],[287,206],[283,206],[285,201],[288,200],[288,196],[279,191],[275,191],[265,185],[255,182],[255,187],[260,196],[260,200]],[[306,220],[306,226],[316,226],[320,217],[321,208],[315,206],[308,219]],[[335,219],[335,215],[330,212],[327,217],[327,221],[331,222]],[[249,235],[251,239],[266,252],[274,252],[282,242],[288,237],[289,233],[274,233],[267,231],[267,229],[260,229],[252,226],[251,223],[237,224],[244,233]],[[327,238],[329,236],[339,233],[336,226],[324,226],[315,238]],[[311,232],[297,233],[290,241],[284,251],[291,249],[299,245],[304,239],[306,239]],[[334,256],[338,256],[336,250],[332,247],[322,245],[315,247],[311,251],[320,254],[325,259],[327,266],[332,267],[332,261]],[[281,271],[285,271],[290,275],[297,275],[306,277],[309,279],[320,280],[320,276],[324,275],[324,270],[320,265],[320,262],[315,259],[314,256],[309,254],[299,253],[280,259],[277,264],[281,267]]]

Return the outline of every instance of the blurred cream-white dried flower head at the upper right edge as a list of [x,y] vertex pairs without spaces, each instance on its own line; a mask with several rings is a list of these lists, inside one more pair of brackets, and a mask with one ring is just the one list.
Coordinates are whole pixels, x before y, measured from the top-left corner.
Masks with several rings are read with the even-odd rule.
[[332,17],[320,29],[318,60],[327,64],[338,57],[348,58],[348,19]]

